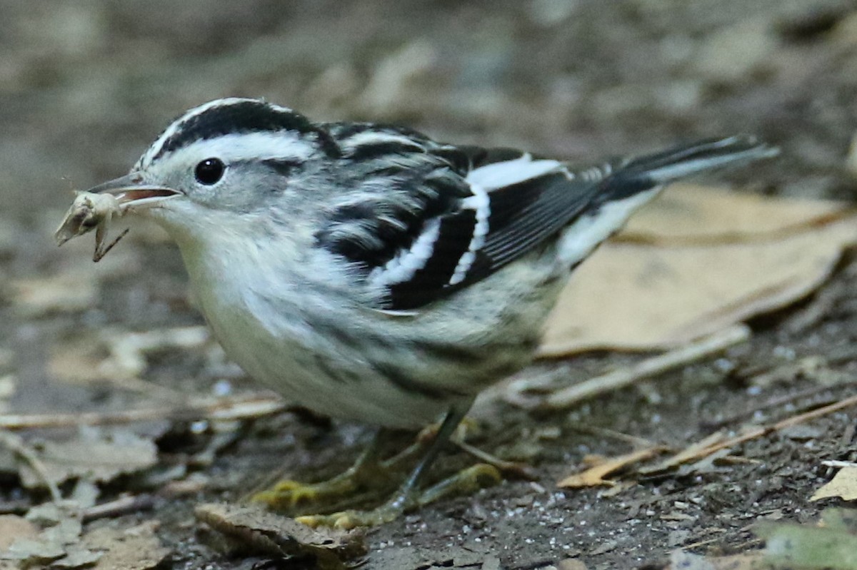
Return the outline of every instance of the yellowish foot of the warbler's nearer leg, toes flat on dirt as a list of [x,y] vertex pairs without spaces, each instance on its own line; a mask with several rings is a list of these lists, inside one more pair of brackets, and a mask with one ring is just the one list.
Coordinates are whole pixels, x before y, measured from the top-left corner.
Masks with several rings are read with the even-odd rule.
[[333,514],[309,514],[295,520],[312,527],[331,526],[351,529],[357,526],[377,526],[398,519],[405,513],[453,495],[469,495],[502,481],[496,467],[478,463],[434,484],[425,490],[406,490],[391,501],[368,511],[346,510]]

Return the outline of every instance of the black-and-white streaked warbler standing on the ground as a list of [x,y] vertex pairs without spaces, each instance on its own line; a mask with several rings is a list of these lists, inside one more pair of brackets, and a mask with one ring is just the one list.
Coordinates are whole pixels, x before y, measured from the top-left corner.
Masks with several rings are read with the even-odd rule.
[[[381,434],[439,422],[386,502],[300,519],[351,527],[426,502],[425,472],[476,395],[530,364],[572,270],[634,211],[670,182],[776,152],[740,134],[578,168],[220,98],[89,192],[166,230],[213,336],[250,377]],[[261,496],[354,490],[377,448],[327,487]]]

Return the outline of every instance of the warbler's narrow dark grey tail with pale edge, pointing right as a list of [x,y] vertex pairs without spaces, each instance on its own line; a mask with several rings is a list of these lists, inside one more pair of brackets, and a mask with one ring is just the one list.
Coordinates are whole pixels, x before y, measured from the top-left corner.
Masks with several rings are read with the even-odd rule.
[[[755,137],[739,134],[727,139],[701,140],[667,151],[627,159],[618,164],[608,185],[619,190],[629,187],[662,186],[705,170],[750,163],[760,158],[776,157],[776,146],[765,145]],[[632,189],[631,193],[633,192]]]

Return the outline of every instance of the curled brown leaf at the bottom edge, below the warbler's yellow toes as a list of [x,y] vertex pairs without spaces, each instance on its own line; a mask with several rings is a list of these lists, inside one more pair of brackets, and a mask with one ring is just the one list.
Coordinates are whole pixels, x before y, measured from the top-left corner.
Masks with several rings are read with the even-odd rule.
[[360,532],[313,529],[258,505],[208,503],[195,508],[195,515],[219,532],[231,551],[306,557],[321,570],[343,569],[344,561],[366,553]]

